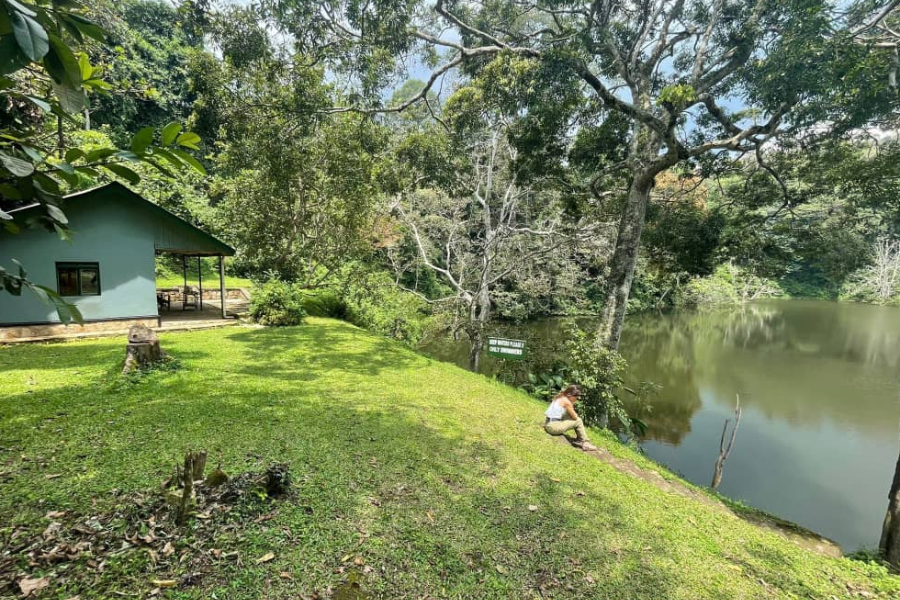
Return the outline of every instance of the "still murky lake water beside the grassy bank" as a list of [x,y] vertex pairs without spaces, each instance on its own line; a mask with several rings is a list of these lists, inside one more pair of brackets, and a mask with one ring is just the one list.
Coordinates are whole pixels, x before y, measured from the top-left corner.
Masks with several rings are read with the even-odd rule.
[[[563,331],[548,319],[498,333],[548,352]],[[648,456],[709,485],[740,394],[719,491],[847,551],[877,546],[900,444],[900,309],[783,300],[641,314],[629,317],[620,350],[632,386],[662,386],[644,417]],[[465,341],[425,351],[465,366]],[[485,361],[486,374],[497,370]]]

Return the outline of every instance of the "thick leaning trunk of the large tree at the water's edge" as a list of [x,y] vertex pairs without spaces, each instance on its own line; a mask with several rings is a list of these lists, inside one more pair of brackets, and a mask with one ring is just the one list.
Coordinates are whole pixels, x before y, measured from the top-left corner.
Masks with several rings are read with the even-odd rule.
[[616,249],[609,262],[606,300],[597,336],[613,350],[619,347],[619,339],[622,337],[625,309],[628,305],[628,295],[631,293],[631,283],[634,281],[641,231],[644,228],[653,183],[653,173],[640,171],[635,174],[628,189],[628,200],[622,219],[619,221]]

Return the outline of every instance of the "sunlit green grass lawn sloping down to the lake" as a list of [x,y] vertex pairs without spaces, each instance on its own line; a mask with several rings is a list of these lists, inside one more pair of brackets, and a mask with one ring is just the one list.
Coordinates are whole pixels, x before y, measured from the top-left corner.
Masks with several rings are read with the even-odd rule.
[[[295,493],[203,542],[219,554],[189,580],[178,557],[207,551],[190,528],[170,558],[14,557],[52,575],[41,597],[145,597],[154,579],[179,582],[167,598],[900,597],[880,567],[660,491],[546,436],[525,394],[351,325],[161,339],[181,370],[124,384],[122,338],[0,347],[0,562],[50,511],[159,493],[188,449],[228,473],[289,463]],[[337,591],[357,574],[367,595]]]

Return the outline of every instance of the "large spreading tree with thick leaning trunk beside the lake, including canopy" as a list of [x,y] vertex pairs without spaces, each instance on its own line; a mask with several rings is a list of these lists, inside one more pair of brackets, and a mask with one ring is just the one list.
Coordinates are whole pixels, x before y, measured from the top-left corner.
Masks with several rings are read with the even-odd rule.
[[[773,137],[827,122],[864,123],[894,99],[888,53],[860,36],[898,2],[828,0],[560,0],[476,3],[457,0],[272,0],[284,30],[306,48],[326,49],[335,72],[355,74],[360,101],[339,110],[377,110],[379,85],[394,55],[433,65],[426,97],[443,76],[517,64],[527,79],[515,100],[522,140],[540,152],[573,129],[594,105],[597,120],[627,127],[620,162],[598,161],[596,181],[619,174],[627,190],[608,263],[598,335],[616,347],[634,277],[650,192],[657,175],[681,163],[714,166],[735,154],[764,162]],[[552,96],[582,102],[548,106]],[[584,125],[584,121],[579,123]],[[773,172],[774,175],[774,172]],[[596,189],[596,186],[594,186]]]

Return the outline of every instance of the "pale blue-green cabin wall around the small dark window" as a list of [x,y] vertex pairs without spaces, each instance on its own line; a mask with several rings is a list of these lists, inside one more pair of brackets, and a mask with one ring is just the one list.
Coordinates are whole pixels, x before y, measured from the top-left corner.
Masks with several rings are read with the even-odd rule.
[[[57,290],[57,262],[99,263],[100,295],[66,298],[85,321],[157,317],[154,233],[147,209],[98,196],[65,210],[71,242],[44,229],[0,233],[0,264],[11,270],[10,259],[17,259],[31,281]],[[31,292],[16,297],[0,291],[0,325],[58,322],[53,307]]]

